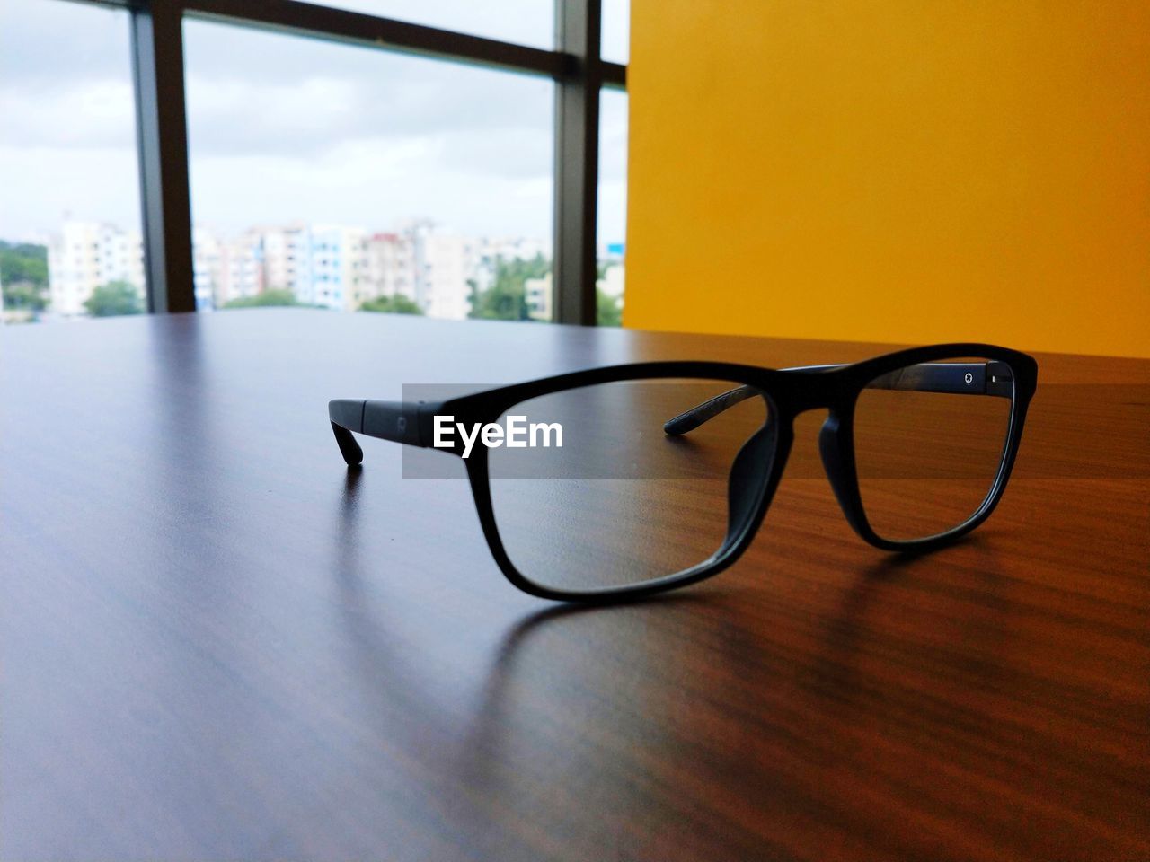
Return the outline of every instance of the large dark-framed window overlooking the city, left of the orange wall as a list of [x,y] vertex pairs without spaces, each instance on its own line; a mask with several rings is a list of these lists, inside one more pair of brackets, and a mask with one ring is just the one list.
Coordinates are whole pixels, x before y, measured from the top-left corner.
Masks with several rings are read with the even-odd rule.
[[[598,3],[320,2],[6,0],[0,184],[22,206],[0,211],[0,315],[593,322],[589,262],[600,243],[621,263],[622,186],[598,190],[606,232],[580,230],[584,97],[626,84],[585,56]],[[626,30],[607,6],[605,49]]]

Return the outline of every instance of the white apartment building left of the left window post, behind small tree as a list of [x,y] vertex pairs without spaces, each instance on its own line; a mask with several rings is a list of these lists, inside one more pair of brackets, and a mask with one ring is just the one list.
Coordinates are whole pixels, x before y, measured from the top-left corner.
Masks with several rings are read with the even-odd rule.
[[139,231],[106,222],[66,221],[48,241],[48,309],[54,315],[86,314],[97,287],[130,284],[144,302],[144,243]]

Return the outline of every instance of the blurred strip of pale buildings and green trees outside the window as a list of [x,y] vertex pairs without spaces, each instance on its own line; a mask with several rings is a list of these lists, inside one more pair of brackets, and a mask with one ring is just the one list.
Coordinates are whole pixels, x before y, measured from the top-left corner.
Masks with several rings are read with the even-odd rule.
[[[551,321],[551,244],[466,237],[427,218],[390,231],[292,222],[225,234],[193,229],[200,310],[301,305],[445,320]],[[598,318],[619,325],[623,245],[599,249]],[[59,232],[0,243],[6,323],[137,314],[146,309],[143,237],[66,218]]]

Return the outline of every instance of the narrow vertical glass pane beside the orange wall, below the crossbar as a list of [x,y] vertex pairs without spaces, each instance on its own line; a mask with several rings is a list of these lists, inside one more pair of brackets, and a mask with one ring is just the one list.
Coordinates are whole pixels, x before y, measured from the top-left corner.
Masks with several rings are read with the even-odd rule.
[[618,326],[623,310],[627,236],[627,93],[604,90],[599,100],[598,322]]

